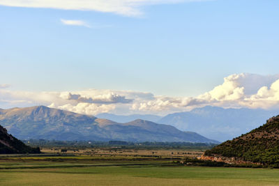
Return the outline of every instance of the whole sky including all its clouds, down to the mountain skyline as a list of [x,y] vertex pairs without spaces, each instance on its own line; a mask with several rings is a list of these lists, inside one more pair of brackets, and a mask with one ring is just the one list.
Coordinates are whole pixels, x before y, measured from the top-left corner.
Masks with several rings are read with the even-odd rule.
[[278,0],[0,0],[0,108],[273,109]]

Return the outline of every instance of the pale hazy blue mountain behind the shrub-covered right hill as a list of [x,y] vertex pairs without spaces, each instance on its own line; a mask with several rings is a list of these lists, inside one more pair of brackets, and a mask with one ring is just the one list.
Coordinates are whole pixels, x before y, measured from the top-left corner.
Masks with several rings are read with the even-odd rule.
[[210,139],[226,141],[258,127],[259,123],[265,123],[266,118],[278,114],[278,111],[264,109],[223,109],[207,106],[169,114],[158,123],[172,125],[179,130],[194,131]]

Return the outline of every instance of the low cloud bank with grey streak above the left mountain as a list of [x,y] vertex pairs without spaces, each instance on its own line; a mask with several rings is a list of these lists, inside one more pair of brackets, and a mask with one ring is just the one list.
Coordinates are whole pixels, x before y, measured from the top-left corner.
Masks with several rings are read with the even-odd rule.
[[[29,92],[0,90],[0,107],[28,107],[43,104],[48,107],[65,109],[80,114],[95,115],[114,111],[133,102],[121,92],[111,90],[86,90],[73,92]],[[126,92],[128,93],[128,92]]]

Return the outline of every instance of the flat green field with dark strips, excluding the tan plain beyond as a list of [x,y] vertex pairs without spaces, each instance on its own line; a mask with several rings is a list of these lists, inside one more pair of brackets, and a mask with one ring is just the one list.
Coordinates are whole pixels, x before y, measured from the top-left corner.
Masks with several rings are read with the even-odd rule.
[[1,157],[0,185],[279,185],[279,169],[82,157]]

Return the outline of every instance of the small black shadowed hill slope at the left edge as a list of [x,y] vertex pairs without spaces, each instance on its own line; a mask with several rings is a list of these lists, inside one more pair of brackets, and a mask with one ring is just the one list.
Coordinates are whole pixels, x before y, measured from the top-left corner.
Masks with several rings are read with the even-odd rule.
[[0,125],[0,154],[40,153],[40,148],[31,148],[22,141],[8,134],[7,130]]

